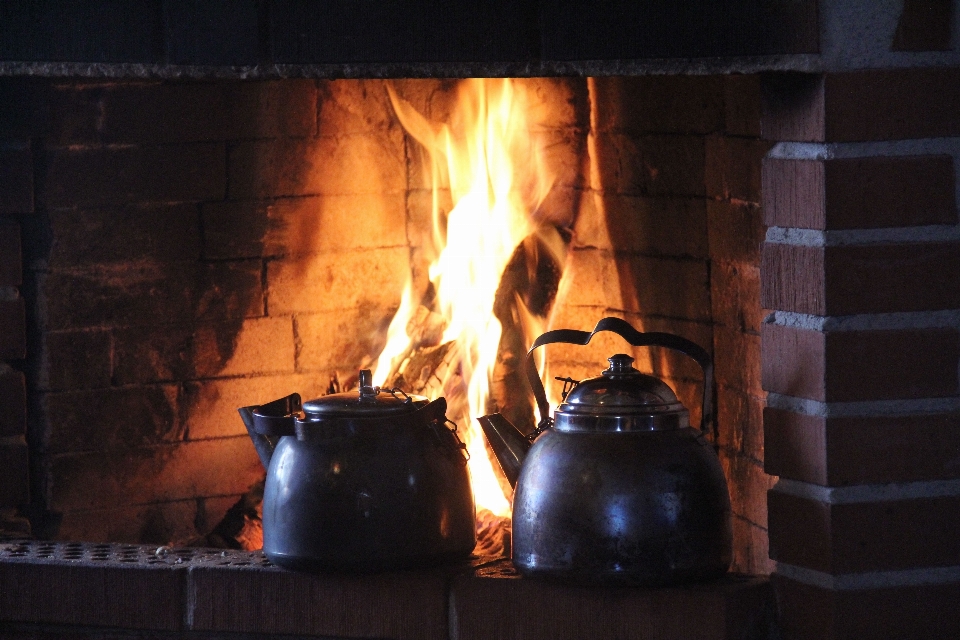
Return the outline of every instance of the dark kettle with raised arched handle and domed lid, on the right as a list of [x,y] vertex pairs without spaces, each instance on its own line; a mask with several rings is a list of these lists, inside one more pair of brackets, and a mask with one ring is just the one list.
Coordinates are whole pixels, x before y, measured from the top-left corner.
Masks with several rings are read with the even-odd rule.
[[[601,331],[635,347],[667,347],[693,358],[704,376],[701,429],[690,427],[689,412],[669,386],[637,371],[625,354],[611,356],[599,377],[568,380],[551,418],[533,352],[557,342],[586,345]],[[727,571],[730,497],[704,437],[713,423],[713,365],[704,349],[604,318],[590,333],[541,335],[524,372],[541,416],[533,433],[524,435],[500,414],[480,418],[515,487],[513,563],[522,575],[653,586]]]

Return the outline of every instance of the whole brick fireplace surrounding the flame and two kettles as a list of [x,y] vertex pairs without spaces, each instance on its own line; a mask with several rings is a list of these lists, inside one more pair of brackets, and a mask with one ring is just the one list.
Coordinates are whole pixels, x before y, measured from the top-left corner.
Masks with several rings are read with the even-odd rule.
[[[960,59],[931,27],[953,5],[739,3],[645,22],[557,4],[503,8],[513,27],[494,49],[433,40],[403,12],[416,46],[364,48],[347,9],[324,23],[295,2],[114,7],[139,40],[10,31],[2,530],[158,546],[209,533],[262,473],[236,408],[319,395],[334,374],[349,385],[406,276],[426,289],[431,193],[387,87],[439,122],[458,78],[523,76],[547,105],[543,206],[566,252],[549,328],[618,315],[711,351],[733,569],[774,574],[787,636],[926,629],[960,584]],[[36,18],[12,11],[8,25]],[[313,23],[339,26],[298,26]],[[873,39],[850,35],[868,23]],[[593,376],[620,350],[555,349],[550,371]],[[634,355],[696,420],[696,368]],[[900,614],[868,621],[877,607]]]

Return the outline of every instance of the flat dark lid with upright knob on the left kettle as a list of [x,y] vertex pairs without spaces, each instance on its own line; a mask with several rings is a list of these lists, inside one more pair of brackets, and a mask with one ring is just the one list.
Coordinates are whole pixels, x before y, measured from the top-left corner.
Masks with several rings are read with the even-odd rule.
[[303,403],[307,418],[379,418],[413,413],[429,403],[422,396],[407,395],[399,389],[381,389],[372,384],[369,369],[360,371],[356,391],[332,393]]

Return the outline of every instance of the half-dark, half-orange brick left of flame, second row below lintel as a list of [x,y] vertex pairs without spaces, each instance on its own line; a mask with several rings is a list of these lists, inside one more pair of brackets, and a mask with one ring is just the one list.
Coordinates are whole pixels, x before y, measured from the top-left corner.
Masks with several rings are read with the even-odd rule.
[[402,193],[403,137],[353,135],[240,142],[229,157],[232,199]]

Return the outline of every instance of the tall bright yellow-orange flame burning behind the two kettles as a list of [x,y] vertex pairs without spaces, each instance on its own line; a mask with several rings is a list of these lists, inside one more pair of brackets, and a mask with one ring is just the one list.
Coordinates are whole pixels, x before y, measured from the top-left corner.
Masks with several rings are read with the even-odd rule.
[[[453,366],[444,374],[443,389],[451,406],[457,400],[451,398],[451,393],[456,395],[452,387],[460,385],[461,393],[465,391],[462,419],[468,424],[461,428],[461,437],[470,454],[477,507],[507,516],[510,502],[487,456],[476,418],[489,412],[489,381],[502,333],[493,312],[497,289],[517,247],[540,230],[538,209],[555,181],[544,145],[530,134],[534,123],[528,114],[535,96],[511,79],[465,80],[457,87],[449,121],[435,124],[393,87],[388,91],[400,123],[426,151],[423,173],[431,182],[433,242],[438,250],[429,267],[436,293],[433,307],[445,325],[441,342],[454,345]],[[445,214],[441,202],[447,192],[453,206]],[[408,326],[418,307],[408,282],[388,329],[374,384],[382,385],[398,358],[415,347]],[[525,338],[532,339],[530,335],[542,330],[542,322],[522,301],[517,312]]]

